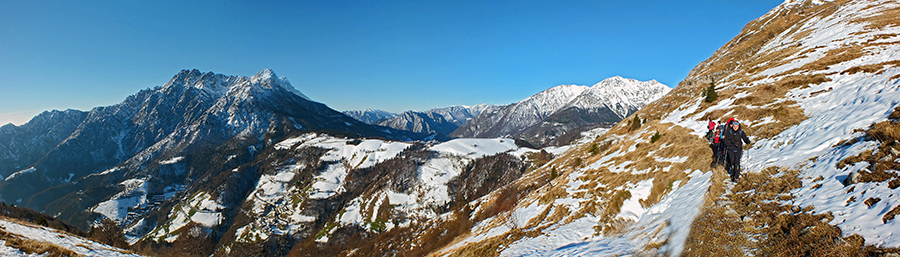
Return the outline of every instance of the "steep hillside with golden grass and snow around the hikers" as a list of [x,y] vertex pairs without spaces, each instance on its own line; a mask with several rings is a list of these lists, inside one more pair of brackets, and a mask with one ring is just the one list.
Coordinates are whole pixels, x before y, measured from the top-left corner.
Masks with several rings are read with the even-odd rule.
[[[636,112],[640,124],[626,119],[523,175],[516,187],[551,181],[437,253],[897,251],[898,13],[895,1],[786,1]],[[718,98],[707,102],[710,85]],[[737,184],[711,167],[708,117],[736,118],[751,136]],[[471,215],[502,199],[473,202]]]

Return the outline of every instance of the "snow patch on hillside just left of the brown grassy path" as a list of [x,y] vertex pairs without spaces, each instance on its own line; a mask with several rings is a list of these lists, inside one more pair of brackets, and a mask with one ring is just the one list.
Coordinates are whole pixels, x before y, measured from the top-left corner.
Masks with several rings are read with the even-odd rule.
[[[694,171],[691,179],[676,188],[670,197],[650,208],[643,208],[638,199],[649,194],[650,181],[642,181],[632,192],[632,197],[623,205],[620,215],[635,224],[624,235],[618,237],[596,237],[591,233],[597,225],[595,217],[584,217],[572,223],[552,228],[542,236],[521,240],[511,245],[503,253],[507,256],[616,256],[641,252],[648,243],[659,243],[667,239],[672,243],[659,252],[677,255],[684,248],[684,240],[690,231],[693,216],[700,213],[703,196],[710,185],[710,172]],[[576,202],[578,199],[568,199]],[[565,202],[565,201],[563,201]],[[526,208],[527,210],[527,208]],[[517,215],[528,218],[535,214]],[[668,224],[668,225],[667,225]],[[589,240],[585,240],[590,238]],[[657,253],[659,254],[659,253]]]

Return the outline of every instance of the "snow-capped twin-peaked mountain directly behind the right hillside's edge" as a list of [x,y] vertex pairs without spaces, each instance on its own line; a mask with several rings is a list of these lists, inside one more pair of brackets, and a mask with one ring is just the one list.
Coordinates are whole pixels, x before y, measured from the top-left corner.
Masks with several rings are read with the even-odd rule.
[[[655,80],[622,77],[593,86],[556,86],[519,102],[482,112],[451,137],[512,137],[535,146],[565,145],[567,133],[611,127],[671,90]],[[566,139],[560,141],[559,139]]]

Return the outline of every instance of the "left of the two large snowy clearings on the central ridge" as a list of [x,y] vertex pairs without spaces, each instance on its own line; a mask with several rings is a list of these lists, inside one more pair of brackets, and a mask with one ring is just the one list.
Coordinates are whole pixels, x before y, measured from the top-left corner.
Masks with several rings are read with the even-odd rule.
[[[260,177],[248,201],[252,201],[251,215],[259,217],[236,231],[238,242],[265,240],[271,235],[290,235],[303,229],[316,218],[303,214],[302,199],[326,199],[343,192],[343,183],[353,169],[371,167],[396,157],[411,144],[376,139],[352,140],[334,138],[325,134],[308,133],[285,139],[274,147],[285,151],[295,148],[317,147],[328,149],[320,158],[327,163],[325,170],[317,174],[310,188],[295,187],[293,181],[305,163],[290,164],[278,168],[275,174]],[[281,215],[287,214],[287,215]],[[271,226],[271,224],[278,226]]]

